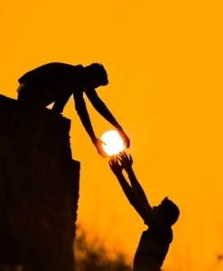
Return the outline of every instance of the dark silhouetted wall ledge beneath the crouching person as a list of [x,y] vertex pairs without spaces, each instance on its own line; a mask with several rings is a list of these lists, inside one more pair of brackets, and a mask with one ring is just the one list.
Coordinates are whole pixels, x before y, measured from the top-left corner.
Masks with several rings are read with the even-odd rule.
[[0,96],[0,265],[71,271],[79,200],[70,120]]

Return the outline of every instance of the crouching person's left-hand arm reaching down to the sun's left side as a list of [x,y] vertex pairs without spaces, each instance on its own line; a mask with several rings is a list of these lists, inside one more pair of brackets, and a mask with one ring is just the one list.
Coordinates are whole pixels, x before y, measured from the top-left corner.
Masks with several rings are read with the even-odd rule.
[[98,154],[100,154],[103,158],[105,158],[107,154],[104,152],[102,148],[102,141],[96,137],[93,127],[91,125],[90,118],[88,115],[88,110],[85,104],[85,100],[83,98],[83,93],[80,91],[76,91],[73,94],[73,97],[74,97],[74,102],[75,102],[75,108],[79,114],[79,118],[83,126],[85,127],[89,137],[91,138],[91,141],[96,146],[98,150]]

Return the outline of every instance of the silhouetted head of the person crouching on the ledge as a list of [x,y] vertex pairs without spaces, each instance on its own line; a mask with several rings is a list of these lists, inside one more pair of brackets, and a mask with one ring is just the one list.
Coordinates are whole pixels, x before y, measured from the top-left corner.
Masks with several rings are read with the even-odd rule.
[[91,65],[85,67],[88,70],[90,79],[94,82],[93,85],[95,88],[99,86],[106,86],[108,84],[107,71],[104,66],[99,63],[92,63]]

